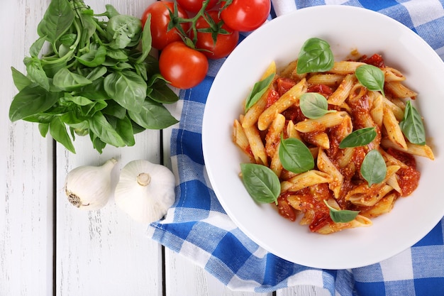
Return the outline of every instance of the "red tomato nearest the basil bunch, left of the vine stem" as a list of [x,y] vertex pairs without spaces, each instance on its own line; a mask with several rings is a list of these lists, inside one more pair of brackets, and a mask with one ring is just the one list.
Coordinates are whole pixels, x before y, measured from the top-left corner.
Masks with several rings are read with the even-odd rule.
[[[177,28],[173,28],[168,31],[168,23],[170,23],[170,9],[174,11],[174,2],[172,1],[155,1],[150,4],[147,9],[143,12],[141,21],[145,26],[145,22],[148,16],[151,15],[151,36],[152,36],[152,47],[161,50],[165,46],[173,41],[182,40],[177,31]],[[181,6],[177,5],[177,11],[179,17],[188,18],[188,13]],[[189,29],[189,23],[182,23],[180,26],[185,32]]]

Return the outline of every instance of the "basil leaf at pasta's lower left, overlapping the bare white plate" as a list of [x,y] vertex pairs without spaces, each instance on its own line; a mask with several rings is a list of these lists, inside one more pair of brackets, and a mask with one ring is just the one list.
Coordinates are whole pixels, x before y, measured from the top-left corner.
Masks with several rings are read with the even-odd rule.
[[279,177],[265,165],[241,163],[242,181],[245,189],[255,202],[277,203],[281,192]]

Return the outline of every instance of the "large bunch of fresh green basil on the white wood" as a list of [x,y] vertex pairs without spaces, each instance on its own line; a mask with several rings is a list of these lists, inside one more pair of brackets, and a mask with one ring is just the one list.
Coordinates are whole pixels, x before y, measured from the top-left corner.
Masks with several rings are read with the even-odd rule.
[[178,97],[149,55],[149,21],[143,28],[111,5],[94,14],[82,0],[52,0],[38,35],[23,60],[27,75],[11,68],[18,89],[11,121],[38,123],[42,136],[49,132],[72,153],[76,135],[89,135],[101,153],[106,144],[133,146],[135,133],[177,123],[163,106]]

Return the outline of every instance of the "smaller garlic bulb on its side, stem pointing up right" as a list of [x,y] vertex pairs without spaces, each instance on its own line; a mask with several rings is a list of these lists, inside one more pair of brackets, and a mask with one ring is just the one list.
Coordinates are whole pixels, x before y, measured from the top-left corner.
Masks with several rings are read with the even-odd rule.
[[111,170],[117,160],[111,158],[101,166],[82,165],[68,172],[65,193],[79,209],[101,209],[111,196]]

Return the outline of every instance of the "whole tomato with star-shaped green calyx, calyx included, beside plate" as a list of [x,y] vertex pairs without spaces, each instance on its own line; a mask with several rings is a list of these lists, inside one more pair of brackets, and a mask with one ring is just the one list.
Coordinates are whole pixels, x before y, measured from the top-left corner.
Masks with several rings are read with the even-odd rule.
[[[218,11],[208,11],[196,21],[195,47],[211,59],[229,55],[238,45],[239,32],[226,26],[218,16]],[[190,34],[194,38],[194,33]]]

